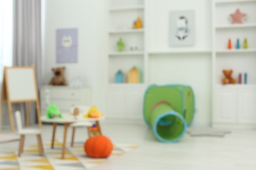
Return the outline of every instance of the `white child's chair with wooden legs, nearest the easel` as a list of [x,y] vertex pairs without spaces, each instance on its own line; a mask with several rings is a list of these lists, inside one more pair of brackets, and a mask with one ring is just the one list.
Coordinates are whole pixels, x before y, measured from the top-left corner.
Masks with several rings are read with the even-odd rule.
[[18,134],[20,135],[20,146],[18,149],[18,156],[21,156],[21,154],[23,152],[25,135],[37,135],[39,154],[41,156],[43,156],[44,152],[43,152],[43,143],[42,143],[42,138],[41,138],[41,129],[32,129],[32,128],[24,129],[24,128],[22,128],[22,118],[20,115],[20,111],[15,112],[15,117],[16,117]]

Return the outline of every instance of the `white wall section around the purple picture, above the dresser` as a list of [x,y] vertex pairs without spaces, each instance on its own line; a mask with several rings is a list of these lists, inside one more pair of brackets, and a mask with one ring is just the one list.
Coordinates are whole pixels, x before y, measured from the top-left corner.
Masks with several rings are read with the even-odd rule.
[[[98,95],[98,55],[100,54],[101,0],[45,0],[45,78],[51,80],[53,67],[66,66],[66,79],[70,82],[79,76],[93,87],[93,103],[100,105]],[[56,29],[78,29],[78,62],[56,63]]]

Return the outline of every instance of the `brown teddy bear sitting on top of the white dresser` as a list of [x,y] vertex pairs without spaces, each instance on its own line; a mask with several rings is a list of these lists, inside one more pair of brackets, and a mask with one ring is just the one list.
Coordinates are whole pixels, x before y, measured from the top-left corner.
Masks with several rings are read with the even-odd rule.
[[66,86],[67,82],[66,79],[64,78],[64,72],[65,72],[65,67],[56,67],[53,68],[53,78],[49,84],[53,86]]

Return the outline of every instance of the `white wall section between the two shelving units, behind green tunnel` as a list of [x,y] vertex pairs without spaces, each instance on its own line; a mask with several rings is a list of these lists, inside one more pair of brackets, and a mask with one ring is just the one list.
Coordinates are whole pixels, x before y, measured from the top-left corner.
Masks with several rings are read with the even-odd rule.
[[[169,46],[169,12],[195,10],[196,36],[194,46]],[[150,1],[149,50],[211,49],[210,0],[161,0]],[[150,84],[188,84],[196,95],[194,126],[211,124],[211,54],[150,55],[148,59]]]

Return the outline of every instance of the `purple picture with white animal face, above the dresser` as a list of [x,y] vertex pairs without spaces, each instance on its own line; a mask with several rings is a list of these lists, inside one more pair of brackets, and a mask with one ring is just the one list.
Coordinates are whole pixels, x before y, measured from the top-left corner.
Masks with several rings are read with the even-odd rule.
[[77,29],[57,29],[57,63],[77,62]]

